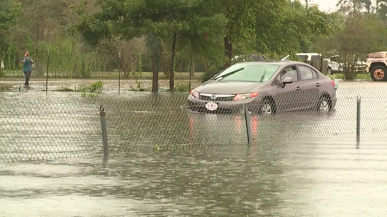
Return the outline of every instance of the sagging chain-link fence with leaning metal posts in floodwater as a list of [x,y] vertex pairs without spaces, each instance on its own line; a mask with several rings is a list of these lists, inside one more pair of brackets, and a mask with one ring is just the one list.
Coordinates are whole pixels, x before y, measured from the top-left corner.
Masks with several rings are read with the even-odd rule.
[[[334,92],[206,95],[193,92],[134,97],[17,100],[0,98],[0,158],[41,160],[102,154],[99,108],[106,111],[110,153],[247,144],[252,141],[387,132],[387,88]],[[212,111],[213,110],[213,111]]]

